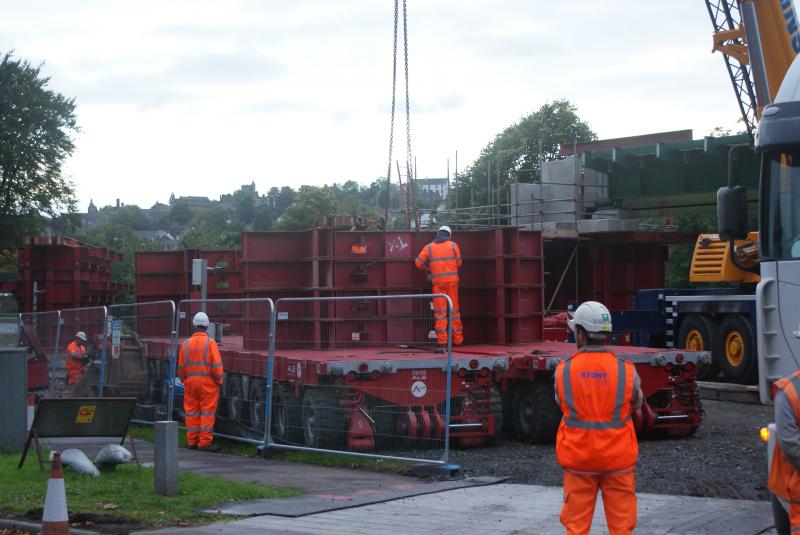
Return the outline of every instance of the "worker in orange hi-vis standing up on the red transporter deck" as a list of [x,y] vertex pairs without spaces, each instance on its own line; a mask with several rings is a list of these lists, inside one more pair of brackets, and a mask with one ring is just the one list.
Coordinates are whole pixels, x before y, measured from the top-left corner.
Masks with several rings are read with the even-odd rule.
[[[453,344],[464,342],[461,325],[461,311],[458,309],[458,268],[461,267],[461,250],[451,240],[450,227],[439,227],[436,238],[422,248],[414,264],[417,269],[430,272],[433,293],[445,294],[453,302]],[[436,319],[436,342],[447,344],[447,300],[440,297],[433,299],[433,317]]]

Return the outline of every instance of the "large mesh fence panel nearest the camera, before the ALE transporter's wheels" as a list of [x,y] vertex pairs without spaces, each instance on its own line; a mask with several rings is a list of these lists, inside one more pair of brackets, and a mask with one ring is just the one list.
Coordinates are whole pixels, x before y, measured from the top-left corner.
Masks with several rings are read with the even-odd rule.
[[451,334],[447,296],[279,299],[268,447],[446,462],[451,398],[463,398],[434,299]]

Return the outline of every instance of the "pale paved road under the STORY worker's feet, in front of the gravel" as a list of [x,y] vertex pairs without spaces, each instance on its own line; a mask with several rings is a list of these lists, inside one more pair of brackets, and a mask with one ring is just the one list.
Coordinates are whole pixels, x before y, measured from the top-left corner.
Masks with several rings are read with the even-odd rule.
[[[561,490],[538,485],[501,484],[465,488],[298,518],[257,516],[225,524],[191,528],[201,535],[563,535],[558,522]],[[641,535],[766,535],[772,519],[769,503],[690,498],[660,494],[639,496]],[[173,528],[147,533],[187,533]],[[592,534],[607,533],[598,503]],[[144,533],[144,532],[142,532]]]

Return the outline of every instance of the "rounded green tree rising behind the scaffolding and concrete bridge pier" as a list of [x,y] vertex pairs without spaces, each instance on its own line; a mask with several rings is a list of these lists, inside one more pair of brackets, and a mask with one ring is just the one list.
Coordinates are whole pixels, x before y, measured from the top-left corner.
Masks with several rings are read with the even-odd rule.
[[[594,139],[597,136],[568,100],[545,104],[497,134],[481,150],[478,159],[459,174],[458,205],[469,206],[471,195],[476,204],[488,204],[489,181],[493,200],[497,202],[498,176],[500,199],[504,199],[511,183],[537,182],[540,162],[559,158],[562,145]],[[456,195],[451,194],[448,202],[454,204]]]

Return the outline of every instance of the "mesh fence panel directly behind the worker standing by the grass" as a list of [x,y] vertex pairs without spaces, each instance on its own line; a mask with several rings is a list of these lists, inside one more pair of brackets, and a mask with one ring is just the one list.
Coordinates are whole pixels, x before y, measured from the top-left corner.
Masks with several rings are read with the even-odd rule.
[[[192,318],[206,312],[213,326],[224,369],[214,433],[233,440],[263,444],[266,437],[267,366],[273,304],[271,299],[193,299],[178,304],[177,347],[195,329]],[[175,373],[175,367],[170,370]],[[173,375],[174,377],[174,375]],[[185,422],[184,386],[173,393],[176,417]]]

